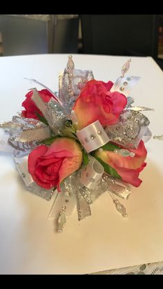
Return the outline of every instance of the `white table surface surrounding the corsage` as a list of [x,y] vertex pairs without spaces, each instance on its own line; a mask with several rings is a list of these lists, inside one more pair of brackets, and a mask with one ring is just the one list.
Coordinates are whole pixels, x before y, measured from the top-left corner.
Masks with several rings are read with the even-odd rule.
[[[146,112],[153,135],[163,134],[163,73],[151,57],[131,57],[128,74],[141,76],[133,88],[135,105]],[[95,79],[115,81],[127,57],[74,54],[75,68],[93,70]],[[0,120],[21,111],[28,88],[23,77],[58,90],[66,54],[0,57]],[[39,89],[40,87],[37,86]],[[146,143],[147,166],[140,188],[132,188],[128,218],[115,210],[108,193],[91,206],[92,216],[68,217],[64,231],[48,220],[52,200],[28,192],[12,157],[0,152],[0,274],[85,274],[163,260],[163,142]]]

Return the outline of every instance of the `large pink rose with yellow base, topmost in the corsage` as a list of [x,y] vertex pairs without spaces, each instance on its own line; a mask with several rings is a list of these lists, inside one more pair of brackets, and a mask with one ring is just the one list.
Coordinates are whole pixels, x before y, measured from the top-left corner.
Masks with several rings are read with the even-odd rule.
[[124,94],[110,92],[113,82],[90,80],[81,90],[73,110],[77,114],[77,128],[81,130],[99,120],[102,126],[111,126],[119,120],[119,115],[127,104]]

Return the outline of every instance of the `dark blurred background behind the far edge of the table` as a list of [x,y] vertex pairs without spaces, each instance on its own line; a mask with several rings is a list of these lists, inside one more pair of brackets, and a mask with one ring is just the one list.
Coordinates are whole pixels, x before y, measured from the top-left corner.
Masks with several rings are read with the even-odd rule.
[[150,56],[163,70],[163,14],[0,14],[0,55]]

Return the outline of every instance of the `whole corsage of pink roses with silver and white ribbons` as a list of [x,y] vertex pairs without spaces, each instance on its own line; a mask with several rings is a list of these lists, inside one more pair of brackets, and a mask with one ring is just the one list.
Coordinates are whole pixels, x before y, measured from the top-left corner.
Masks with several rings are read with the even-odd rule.
[[[36,185],[37,192],[39,188],[42,195],[51,192],[50,197],[56,189],[59,195],[75,191],[81,219],[80,202],[85,200],[89,206],[88,197],[100,195],[97,188],[106,177],[111,192],[113,184],[124,190],[128,184],[142,183],[140,172],[147,155],[143,139],[149,121],[142,114],[146,108],[131,106],[133,101],[127,97],[139,79],[124,77],[128,67],[129,60],[115,83],[105,83],[95,80],[90,70],[75,70],[69,57],[60,74],[59,93],[30,90],[21,116],[3,125],[9,129],[8,143],[15,155],[26,155],[23,165],[17,164],[26,187],[35,192]],[[124,187],[116,187],[116,181]],[[125,198],[123,192],[121,197]]]

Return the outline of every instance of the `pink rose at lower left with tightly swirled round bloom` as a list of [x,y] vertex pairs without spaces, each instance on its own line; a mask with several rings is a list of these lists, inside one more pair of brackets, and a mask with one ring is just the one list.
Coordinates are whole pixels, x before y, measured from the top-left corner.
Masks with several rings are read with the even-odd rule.
[[51,146],[38,146],[30,152],[28,170],[33,180],[42,188],[57,186],[78,170],[82,162],[81,147],[74,139],[61,137]]

